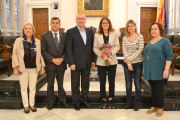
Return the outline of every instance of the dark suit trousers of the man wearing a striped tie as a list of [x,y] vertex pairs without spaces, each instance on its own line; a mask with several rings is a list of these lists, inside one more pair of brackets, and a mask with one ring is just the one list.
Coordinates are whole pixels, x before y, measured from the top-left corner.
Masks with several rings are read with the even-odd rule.
[[58,83],[58,97],[60,102],[66,102],[66,92],[64,91],[63,81],[64,81],[64,71],[59,70],[46,70],[47,78],[47,98],[49,103],[55,102],[54,94],[54,79],[56,77]]

